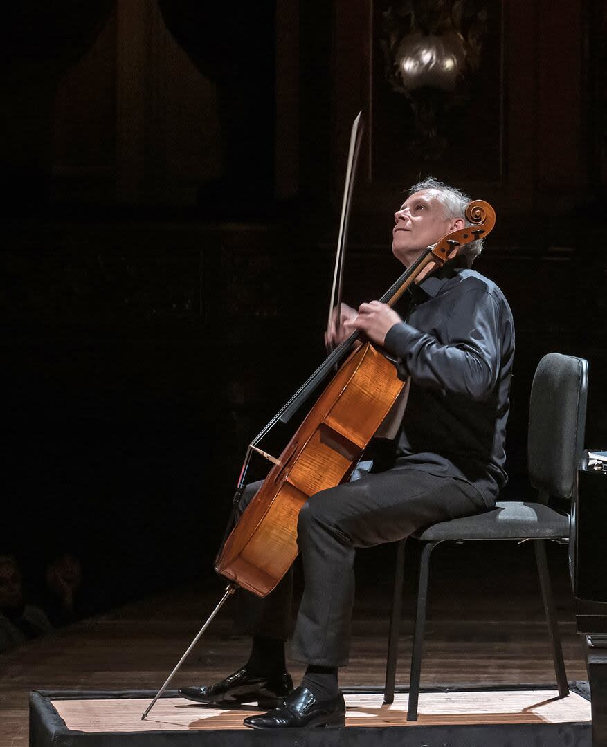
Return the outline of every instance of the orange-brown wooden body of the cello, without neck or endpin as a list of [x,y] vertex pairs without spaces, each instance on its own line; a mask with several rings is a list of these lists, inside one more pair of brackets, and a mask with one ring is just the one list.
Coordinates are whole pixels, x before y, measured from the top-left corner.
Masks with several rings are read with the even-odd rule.
[[404,383],[372,344],[351,353],[230,533],[219,574],[259,597],[274,589],[298,555],[301,506],[348,480]]

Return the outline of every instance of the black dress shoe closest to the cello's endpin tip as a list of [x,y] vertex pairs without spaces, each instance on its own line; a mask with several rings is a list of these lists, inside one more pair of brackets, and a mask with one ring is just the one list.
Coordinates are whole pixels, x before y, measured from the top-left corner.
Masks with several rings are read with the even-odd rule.
[[197,703],[217,705],[240,705],[257,701],[260,708],[272,708],[280,704],[293,689],[288,672],[282,675],[262,677],[250,675],[246,666],[229,675],[225,680],[209,687],[182,687],[179,695]]

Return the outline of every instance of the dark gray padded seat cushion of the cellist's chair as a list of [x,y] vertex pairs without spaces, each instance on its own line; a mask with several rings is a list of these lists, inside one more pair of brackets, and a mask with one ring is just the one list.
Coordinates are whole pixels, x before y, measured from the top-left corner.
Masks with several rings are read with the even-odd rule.
[[498,501],[494,509],[440,521],[414,536],[422,542],[455,539],[568,539],[570,517],[543,503]]

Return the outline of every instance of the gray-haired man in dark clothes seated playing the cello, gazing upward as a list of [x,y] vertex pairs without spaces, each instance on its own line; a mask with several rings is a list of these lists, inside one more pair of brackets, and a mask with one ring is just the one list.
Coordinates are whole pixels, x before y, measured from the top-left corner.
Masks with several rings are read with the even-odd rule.
[[[395,212],[392,252],[409,267],[426,247],[466,226],[469,197],[425,179]],[[301,509],[298,547],[304,593],[293,656],[306,663],[300,686],[286,672],[291,573],[264,599],[240,592],[238,615],[253,636],[249,660],[212,686],[179,693],[200,703],[257,701],[272,707],[250,716],[252,728],[343,725],[338,670],[348,663],[354,601],[354,554],[495,504],[505,485],[504,441],[514,357],[514,324],[502,291],[470,269],[475,241],[443,267],[422,270],[410,290],[405,320],[379,301],[358,311],[342,305],[327,338],[339,343],[360,329],[410,377],[406,415],[387,465],[313,495]],[[455,252],[454,252],[455,254]],[[420,279],[421,278],[421,279]],[[239,513],[261,483],[244,491]]]

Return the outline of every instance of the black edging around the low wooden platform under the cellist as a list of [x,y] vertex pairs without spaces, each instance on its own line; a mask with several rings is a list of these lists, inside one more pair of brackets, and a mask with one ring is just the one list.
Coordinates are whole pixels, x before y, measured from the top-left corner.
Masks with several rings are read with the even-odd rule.
[[[483,689],[546,689],[541,686],[470,687]],[[588,684],[572,682],[570,689],[588,698]],[[428,688],[423,692],[454,692],[456,688]],[[344,688],[352,692],[382,692],[381,688]],[[407,689],[398,689],[407,692]],[[29,747],[592,747],[590,723],[408,725],[256,731],[105,732],[73,731],[53,707],[53,699],[153,698],[154,691],[46,691],[30,693]],[[163,697],[175,697],[176,690]]]

